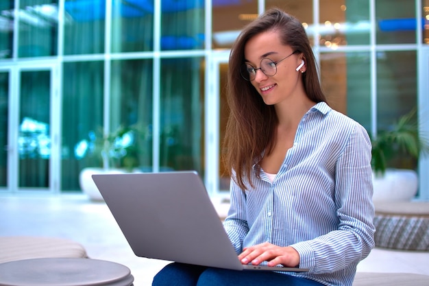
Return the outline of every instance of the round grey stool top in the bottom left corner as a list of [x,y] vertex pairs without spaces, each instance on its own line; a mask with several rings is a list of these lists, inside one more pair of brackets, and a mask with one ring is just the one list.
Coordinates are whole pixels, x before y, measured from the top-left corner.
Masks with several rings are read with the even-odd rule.
[[25,259],[0,263],[0,286],[131,286],[130,269],[83,258]]

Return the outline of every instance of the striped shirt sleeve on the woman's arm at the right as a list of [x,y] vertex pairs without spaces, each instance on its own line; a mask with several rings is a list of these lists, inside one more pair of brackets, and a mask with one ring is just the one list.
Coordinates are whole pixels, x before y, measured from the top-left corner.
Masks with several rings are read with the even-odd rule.
[[291,245],[299,267],[313,273],[341,270],[368,256],[374,246],[371,141],[356,124],[335,167],[334,203],[339,227],[326,235]]

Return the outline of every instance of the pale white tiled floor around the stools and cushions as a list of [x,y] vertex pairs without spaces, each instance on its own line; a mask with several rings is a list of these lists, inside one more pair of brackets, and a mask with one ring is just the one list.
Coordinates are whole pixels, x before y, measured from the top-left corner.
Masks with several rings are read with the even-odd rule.
[[[130,268],[135,286],[151,285],[167,261],[136,257],[103,202],[84,195],[25,197],[0,195],[0,235],[64,237],[81,243],[93,259]],[[1,252],[1,246],[0,246]],[[429,275],[429,252],[374,249],[359,272],[407,272]]]

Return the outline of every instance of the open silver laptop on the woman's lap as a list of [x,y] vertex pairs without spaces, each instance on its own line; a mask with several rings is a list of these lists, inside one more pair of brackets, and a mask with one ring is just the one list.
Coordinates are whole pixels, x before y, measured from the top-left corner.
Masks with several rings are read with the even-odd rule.
[[226,268],[306,272],[243,265],[195,171],[93,175],[138,257]]

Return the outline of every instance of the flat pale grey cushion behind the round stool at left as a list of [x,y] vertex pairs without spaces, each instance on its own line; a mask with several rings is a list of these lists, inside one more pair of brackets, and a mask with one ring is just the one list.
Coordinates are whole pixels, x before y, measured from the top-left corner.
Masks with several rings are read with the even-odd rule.
[[56,237],[0,237],[0,263],[35,258],[88,258],[75,241]]

